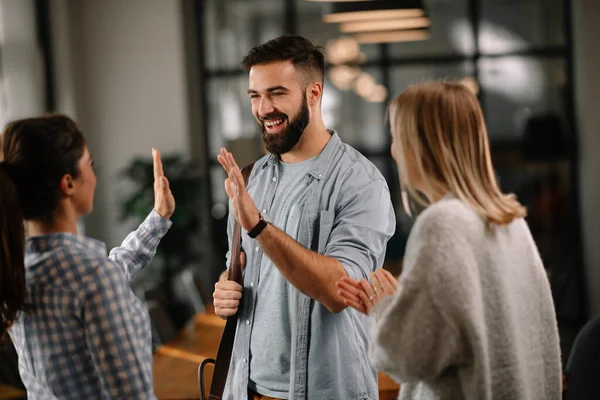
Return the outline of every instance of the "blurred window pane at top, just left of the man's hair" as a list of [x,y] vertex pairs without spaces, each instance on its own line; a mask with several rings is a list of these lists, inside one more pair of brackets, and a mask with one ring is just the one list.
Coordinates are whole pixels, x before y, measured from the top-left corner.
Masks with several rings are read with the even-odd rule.
[[211,69],[239,68],[252,47],[285,32],[281,0],[206,0],[205,60]]

